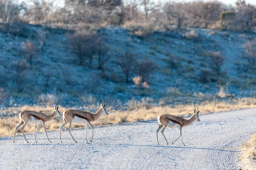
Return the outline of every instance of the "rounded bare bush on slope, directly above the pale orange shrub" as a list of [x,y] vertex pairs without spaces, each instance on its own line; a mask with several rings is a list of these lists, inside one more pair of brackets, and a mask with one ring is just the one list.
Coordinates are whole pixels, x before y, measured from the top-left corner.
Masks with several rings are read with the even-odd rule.
[[152,61],[139,61],[134,67],[134,72],[142,77],[142,81],[148,81],[149,75],[157,69],[157,64]]

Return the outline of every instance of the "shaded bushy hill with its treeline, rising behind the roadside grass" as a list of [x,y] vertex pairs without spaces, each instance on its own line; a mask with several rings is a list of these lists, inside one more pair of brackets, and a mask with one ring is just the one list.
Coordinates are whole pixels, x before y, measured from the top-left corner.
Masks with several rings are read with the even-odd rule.
[[255,104],[256,8],[245,1],[0,6],[2,117],[27,105],[96,110],[101,98],[120,111]]

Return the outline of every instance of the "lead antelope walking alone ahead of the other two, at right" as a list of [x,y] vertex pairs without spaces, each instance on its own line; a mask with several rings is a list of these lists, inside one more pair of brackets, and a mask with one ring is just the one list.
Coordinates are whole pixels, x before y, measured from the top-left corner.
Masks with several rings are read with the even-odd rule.
[[[196,107],[198,108],[198,106],[196,106]],[[184,119],[184,118],[182,118],[180,116],[175,116],[175,115],[160,115],[160,116],[158,116],[157,121],[158,121],[159,128],[157,129],[157,144],[159,144],[159,142],[158,142],[158,132],[160,131],[160,129],[163,128],[161,130],[161,133],[162,133],[163,137],[166,140],[166,144],[168,144],[168,141],[167,141],[165,135],[163,134],[164,130],[166,130],[167,127],[171,128],[171,129],[174,129],[174,128],[177,127],[179,129],[179,131],[180,131],[180,135],[179,135],[178,138],[181,137],[181,142],[182,142],[183,146],[186,146],[183,143],[183,140],[182,140],[181,129],[182,129],[182,127],[189,126],[194,121],[200,121],[199,116],[198,116],[198,113],[200,111],[201,110],[199,110],[199,111],[197,110],[196,111],[196,109],[194,109],[193,110],[193,115],[189,119]],[[175,141],[177,141],[177,139],[175,139]],[[175,141],[173,141],[172,144],[174,144]]]

